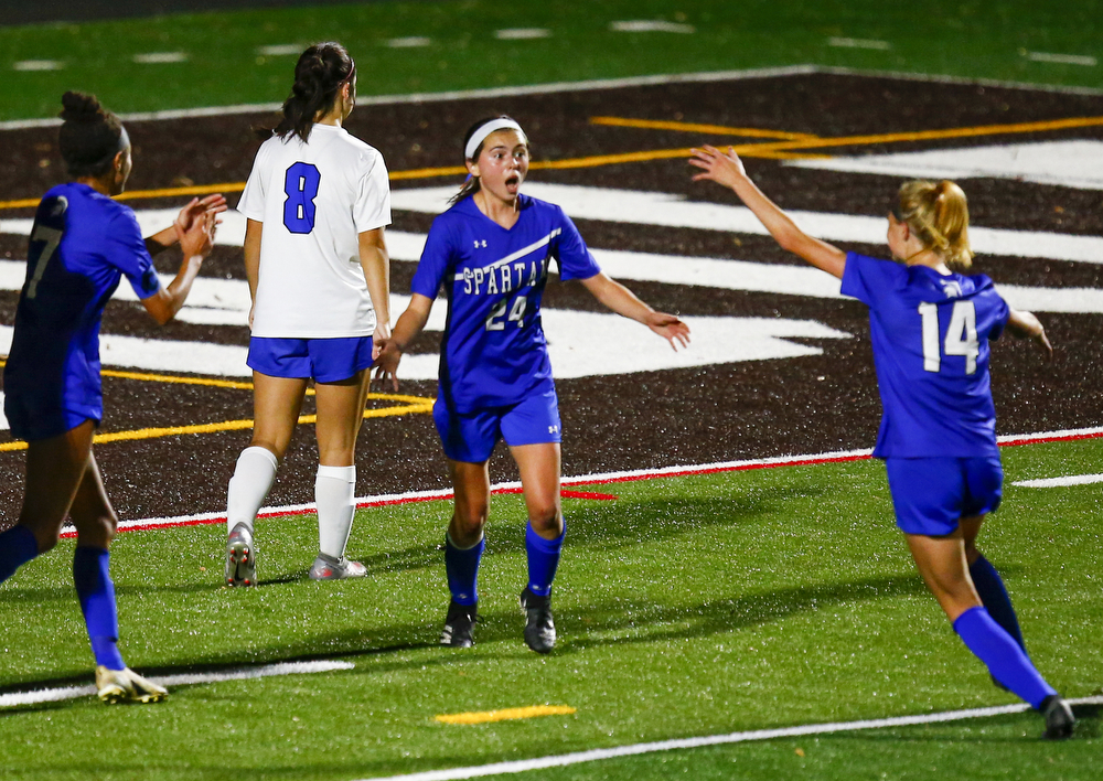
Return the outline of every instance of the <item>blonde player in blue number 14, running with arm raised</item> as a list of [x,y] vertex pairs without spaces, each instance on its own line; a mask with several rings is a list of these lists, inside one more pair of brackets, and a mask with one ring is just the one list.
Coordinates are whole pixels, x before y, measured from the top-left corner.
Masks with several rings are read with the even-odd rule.
[[999,506],[1004,472],[988,378],[988,342],[1006,329],[1052,356],[1046,330],[1007,306],[984,275],[967,276],[965,193],[949,180],[906,182],[888,214],[892,260],[844,253],[808,236],[747,175],[735,150],[694,149],[694,181],[731,188],[782,249],[843,280],[869,307],[882,417],[874,457],[885,460],[897,525],[920,575],[962,642],[993,681],[1046,719],[1045,736],[1072,735],[1069,704],[1026,653],[996,569],[976,548]]

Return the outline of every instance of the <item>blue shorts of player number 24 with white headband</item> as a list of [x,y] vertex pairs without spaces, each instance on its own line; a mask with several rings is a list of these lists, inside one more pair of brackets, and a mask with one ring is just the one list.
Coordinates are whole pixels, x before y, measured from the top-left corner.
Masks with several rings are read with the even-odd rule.
[[450,413],[438,398],[432,405],[432,419],[445,454],[467,463],[488,460],[499,439],[511,447],[561,440],[559,399],[554,388],[533,394],[512,407],[492,407],[470,415]]

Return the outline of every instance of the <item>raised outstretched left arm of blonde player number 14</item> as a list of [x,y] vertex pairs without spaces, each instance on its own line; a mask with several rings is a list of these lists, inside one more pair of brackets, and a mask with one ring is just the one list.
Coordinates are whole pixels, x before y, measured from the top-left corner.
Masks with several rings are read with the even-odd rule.
[[813,238],[796,226],[788,214],[768,199],[754,182],[747,175],[743,162],[736,151],[728,147],[728,153],[722,153],[715,147],[706,146],[694,149],[689,159],[690,165],[702,169],[694,174],[693,180],[710,180],[726,188],[731,188],[754,216],[765,226],[782,249],[801,256],[816,268],[833,277],[843,278],[846,267],[846,253],[838,247]]

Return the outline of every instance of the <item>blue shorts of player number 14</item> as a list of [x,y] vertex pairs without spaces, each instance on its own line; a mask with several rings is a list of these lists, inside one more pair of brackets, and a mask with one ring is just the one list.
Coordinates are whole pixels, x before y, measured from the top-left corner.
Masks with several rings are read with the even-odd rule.
[[961,518],[995,512],[1003,498],[1004,469],[994,457],[888,458],[885,469],[907,534],[953,534]]

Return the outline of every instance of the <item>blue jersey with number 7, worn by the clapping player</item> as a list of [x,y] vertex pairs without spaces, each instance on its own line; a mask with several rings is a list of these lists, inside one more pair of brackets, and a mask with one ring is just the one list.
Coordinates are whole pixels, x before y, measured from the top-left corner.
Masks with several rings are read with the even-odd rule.
[[139,299],[160,289],[130,207],[85,184],[50,190],[31,229],[4,392],[101,420],[99,325],[124,276]]

